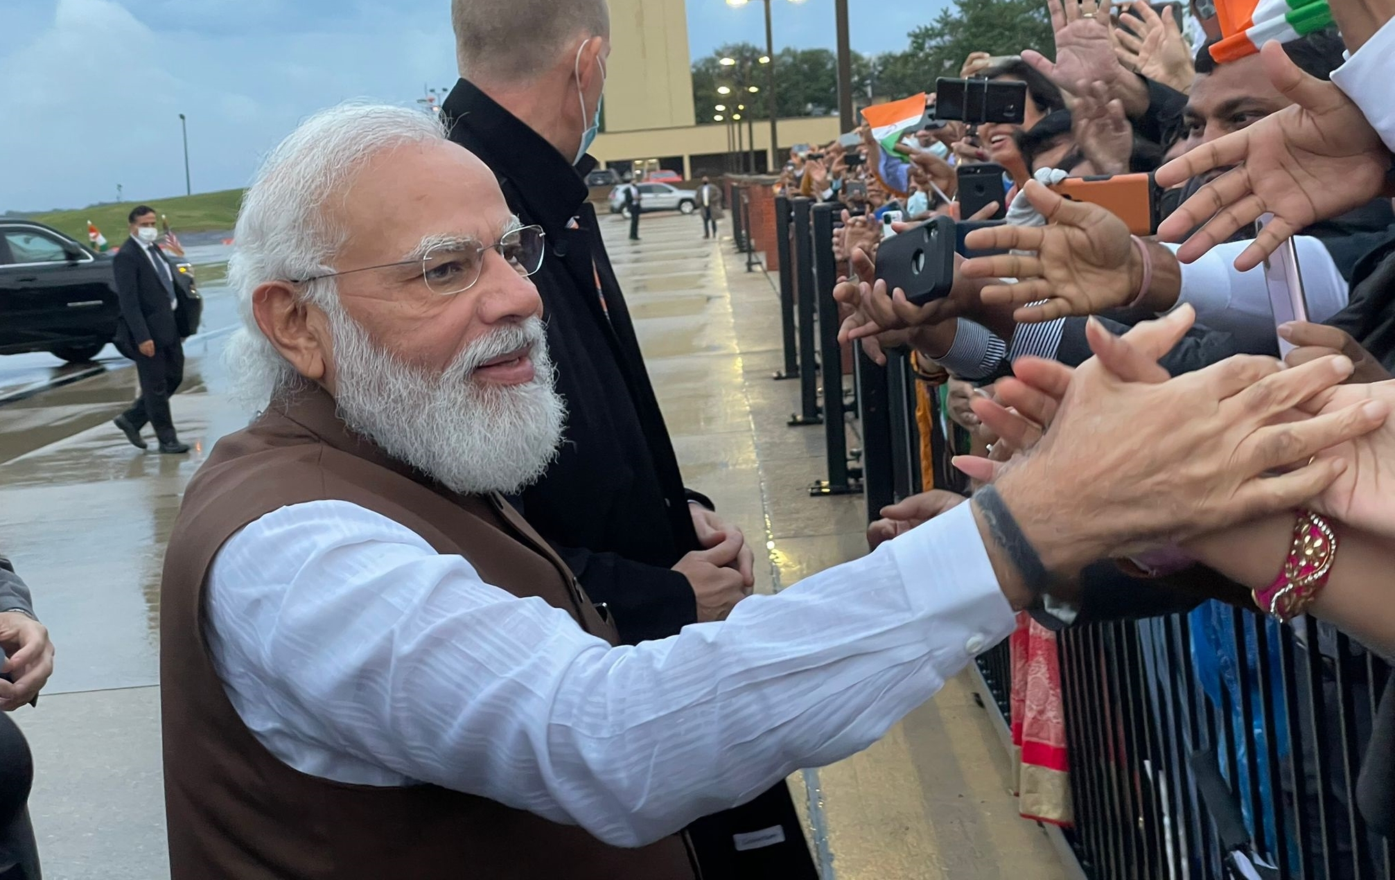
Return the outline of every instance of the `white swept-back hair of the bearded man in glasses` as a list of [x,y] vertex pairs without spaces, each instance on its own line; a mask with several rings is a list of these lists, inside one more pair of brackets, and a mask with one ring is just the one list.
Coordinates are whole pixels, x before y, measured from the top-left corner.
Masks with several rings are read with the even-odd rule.
[[[444,139],[441,121],[421,110],[343,103],[304,120],[265,158],[243,195],[227,262],[243,326],[225,357],[243,403],[262,409],[303,384],[257,326],[252,291],[268,282],[333,272],[329,262],[347,238],[332,211],[336,197],[342,201],[372,156]],[[340,308],[332,278],[303,285],[300,297],[326,311]]]

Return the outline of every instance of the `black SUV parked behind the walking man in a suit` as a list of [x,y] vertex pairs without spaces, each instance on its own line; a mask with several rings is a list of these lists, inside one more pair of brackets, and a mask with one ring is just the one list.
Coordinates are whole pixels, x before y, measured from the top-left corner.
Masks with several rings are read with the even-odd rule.
[[[193,335],[204,311],[193,266],[170,266],[186,335]],[[0,354],[50,351],[74,364],[89,361],[116,336],[119,312],[109,254],[42,223],[0,220]]]

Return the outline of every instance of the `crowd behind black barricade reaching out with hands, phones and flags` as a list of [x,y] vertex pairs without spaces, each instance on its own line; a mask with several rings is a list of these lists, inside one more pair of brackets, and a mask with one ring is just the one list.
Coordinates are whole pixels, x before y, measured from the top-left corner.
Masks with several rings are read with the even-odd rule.
[[[965,121],[954,92],[940,112],[946,85],[958,84],[928,82],[922,120],[889,134],[876,109],[864,112],[868,124],[792,153],[776,187],[843,208],[833,236],[845,275],[834,289],[840,339],[877,364],[889,350],[911,351],[929,491],[869,515],[872,547],[1030,457],[1071,368],[1089,358],[1126,382],[1163,382],[1236,356],[1289,367],[1328,358],[1349,372],[1343,385],[1299,409],[1395,399],[1395,126],[1382,96],[1395,7],[1334,0],[1315,25],[1237,52],[1209,4],[1191,6],[1204,32],[1196,45],[1172,6],[1048,6],[1055,46],[975,52],[960,71],[971,84],[1016,84],[1025,93],[1020,119]],[[904,250],[879,258],[887,241],[942,216],[957,222],[953,278],[915,279],[918,290],[887,283],[908,278],[894,265]],[[1186,325],[1176,344],[1120,357],[1119,335],[1161,315]],[[932,445],[929,432],[943,442]],[[1149,437],[1133,442],[1144,448]],[[1182,736],[1179,763],[1209,743],[1225,795],[1205,806],[1212,817],[1235,806],[1250,838],[1246,870],[1389,876],[1395,435],[1384,428],[1314,460],[1324,457],[1345,459],[1345,473],[1296,515],[1089,566],[1074,601],[1020,616],[1010,668],[1032,675],[1011,682],[1010,703],[1024,814],[1073,819],[1059,633],[1129,618],[1140,669],[1148,658],[1144,699],[1159,725],[1177,724],[1147,736],[1155,749]],[[1176,654],[1170,667],[1165,658],[1175,623],[1156,615],[1168,614],[1186,615],[1184,669]],[[1205,699],[1165,708],[1168,693]],[[1322,706],[1327,717],[1314,720]],[[1108,735],[1094,742],[1115,748]],[[1343,760],[1345,775],[1324,766]],[[1193,787],[1204,775],[1180,773]],[[1156,817],[1172,823],[1161,849],[1202,849],[1196,835],[1186,840],[1179,807]],[[1162,852],[1161,863],[1176,872],[1189,860]],[[1200,863],[1190,870],[1209,876]]]

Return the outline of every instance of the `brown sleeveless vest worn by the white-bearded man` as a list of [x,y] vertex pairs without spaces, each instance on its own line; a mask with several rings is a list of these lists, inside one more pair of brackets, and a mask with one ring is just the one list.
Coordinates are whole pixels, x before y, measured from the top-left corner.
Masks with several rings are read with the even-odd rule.
[[615,643],[566,565],[498,495],[432,485],[349,434],[322,390],[222,439],[190,481],[160,591],[165,798],[174,880],[480,877],[692,880],[679,837],[608,847],[494,801],[434,785],[375,788],[299,773],[247,729],[213,671],[202,595],[219,548],[279,508],[347,501],[402,523],[485,582],[540,597]]

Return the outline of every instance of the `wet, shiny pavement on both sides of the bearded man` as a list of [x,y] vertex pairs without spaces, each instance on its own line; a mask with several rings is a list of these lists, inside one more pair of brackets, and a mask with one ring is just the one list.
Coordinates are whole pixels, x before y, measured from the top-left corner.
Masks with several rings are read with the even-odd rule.
[[[823,434],[785,425],[798,388],[770,379],[780,324],[766,276],[745,273],[730,238],[704,241],[696,218],[646,215],[638,244],[624,220],[603,227],[685,483],[766,548],[757,589],[865,552],[859,496],[808,496],[824,476]],[[211,314],[232,317],[226,291],[205,296]],[[187,351],[173,400],[187,457],[142,453],[110,427],[135,388],[114,361],[0,406],[0,551],[57,644],[39,707],[15,713],[35,752],[31,807],[49,877],[167,876],[159,573],[184,484],[244,423],[226,396],[223,339],[212,332]],[[791,784],[812,801],[826,880],[1063,876],[1046,838],[1016,816],[1006,754],[964,676],[868,752]]]

